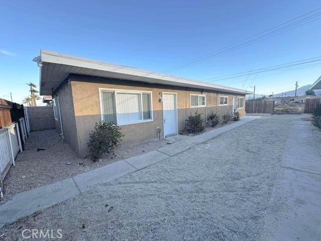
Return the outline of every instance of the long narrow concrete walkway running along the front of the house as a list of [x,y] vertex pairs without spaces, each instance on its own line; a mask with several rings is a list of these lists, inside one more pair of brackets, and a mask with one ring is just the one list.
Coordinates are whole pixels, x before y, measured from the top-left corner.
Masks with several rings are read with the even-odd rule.
[[93,185],[111,181],[170,158],[259,117],[245,116],[239,122],[177,141],[166,147],[82,173],[73,178],[18,193],[12,200],[0,206],[0,227],[3,227],[7,222],[16,221],[21,217],[70,199],[90,189]]

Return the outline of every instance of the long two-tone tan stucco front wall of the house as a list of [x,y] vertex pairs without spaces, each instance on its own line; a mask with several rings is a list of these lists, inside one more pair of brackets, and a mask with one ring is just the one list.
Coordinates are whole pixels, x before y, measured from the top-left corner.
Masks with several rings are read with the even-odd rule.
[[[232,114],[233,96],[244,97],[244,95],[204,91],[203,94],[206,94],[207,96],[207,107],[190,108],[190,94],[201,94],[202,91],[200,89],[190,89],[184,87],[147,84],[134,81],[123,81],[79,75],[71,75],[70,83],[70,90],[72,91],[73,99],[71,101],[68,101],[73,103],[77,135],[77,138],[75,139],[77,139],[78,143],[78,148],[72,148],[80,156],[88,155],[87,143],[89,141],[89,134],[92,132],[95,123],[101,120],[98,88],[143,90],[152,92],[153,121],[121,126],[121,132],[125,135],[121,143],[122,146],[133,145],[139,142],[145,142],[158,138],[157,127],[164,129],[163,105],[162,102],[159,102],[159,97],[162,97],[162,92],[177,93],[179,131],[185,129],[186,116],[191,112],[194,114],[197,110],[199,113],[203,113],[202,116],[204,119],[206,117],[206,111],[207,114],[209,114],[211,110],[217,112],[219,115],[222,115],[224,113]],[[228,105],[220,106],[218,104],[220,95],[228,96]],[[245,108],[238,109],[241,115],[244,115],[244,109]],[[164,134],[162,133],[161,137],[163,138],[163,136]]]

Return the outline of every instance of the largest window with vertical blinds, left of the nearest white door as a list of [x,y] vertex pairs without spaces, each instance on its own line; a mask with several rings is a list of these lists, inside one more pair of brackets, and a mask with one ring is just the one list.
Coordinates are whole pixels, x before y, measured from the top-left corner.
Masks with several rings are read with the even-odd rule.
[[100,98],[104,122],[121,126],[152,121],[151,92],[101,89]]

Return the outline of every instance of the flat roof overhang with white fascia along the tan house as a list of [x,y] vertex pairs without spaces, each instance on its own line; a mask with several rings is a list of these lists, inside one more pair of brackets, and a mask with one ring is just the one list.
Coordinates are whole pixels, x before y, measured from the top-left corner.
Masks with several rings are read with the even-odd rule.
[[51,95],[52,88],[54,90],[57,89],[69,74],[174,85],[235,94],[253,94],[252,91],[243,89],[79,58],[48,50],[41,50],[40,56],[34,58],[34,61],[38,62],[40,66],[40,95]]

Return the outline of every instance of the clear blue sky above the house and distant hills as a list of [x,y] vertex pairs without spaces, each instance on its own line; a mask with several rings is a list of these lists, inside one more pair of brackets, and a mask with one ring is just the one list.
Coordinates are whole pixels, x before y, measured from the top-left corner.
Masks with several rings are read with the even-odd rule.
[[[319,0],[6,1],[0,6],[0,98],[12,92],[21,102],[29,94],[26,83],[39,83],[32,59],[40,49],[162,71],[317,8]],[[204,80],[317,57],[320,39],[321,19],[169,74]],[[321,67],[274,73],[257,75],[257,93],[311,84]],[[244,84],[246,77],[215,83],[246,88],[254,76]]]

